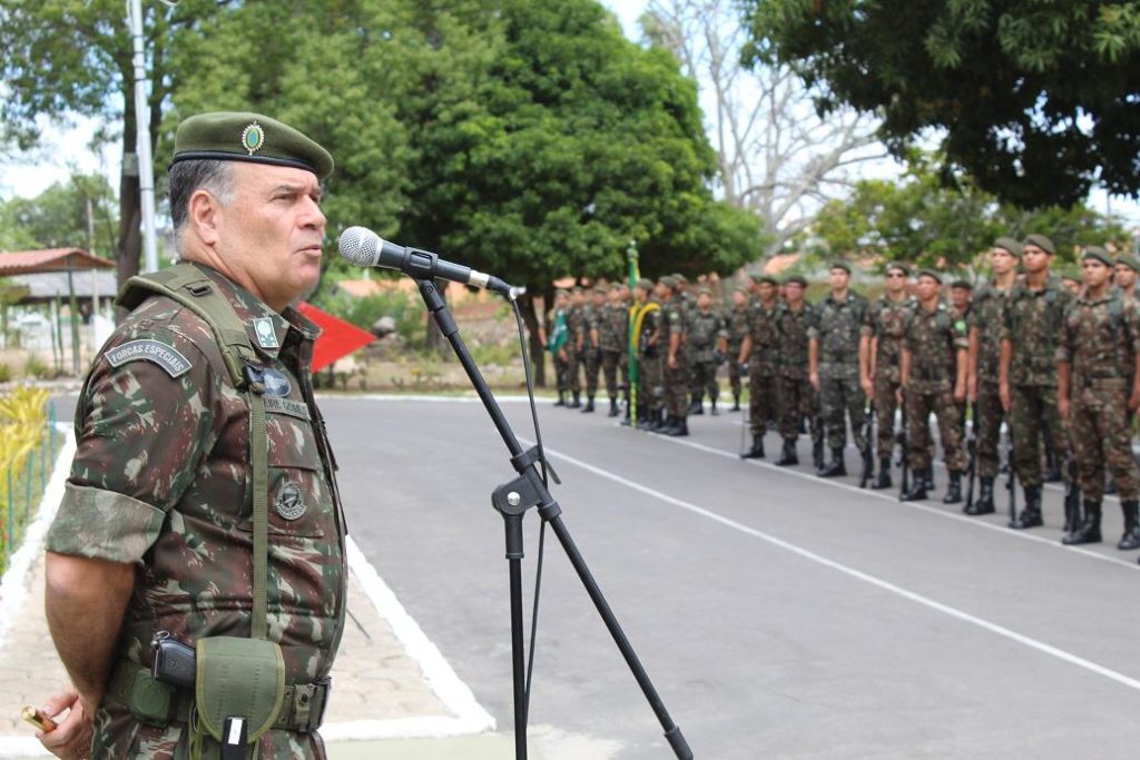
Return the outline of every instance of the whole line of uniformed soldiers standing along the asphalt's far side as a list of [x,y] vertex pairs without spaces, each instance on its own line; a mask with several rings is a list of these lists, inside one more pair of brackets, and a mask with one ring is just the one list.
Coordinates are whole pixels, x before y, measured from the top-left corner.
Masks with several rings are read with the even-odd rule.
[[[910,269],[895,262],[882,295],[869,301],[850,289],[844,261],[832,264],[829,293],[814,304],[798,276],[738,287],[723,311],[708,288],[693,299],[681,276],[638,280],[632,307],[620,285],[594,288],[588,308],[580,288],[561,292],[547,314],[557,406],[593,411],[604,367],[610,416],[620,415],[620,393],[638,428],[687,435],[687,418],[703,414],[706,397],[718,414],[716,373],[728,363],[733,410],[742,377],[749,382],[751,444],[743,458],[763,458],[765,434],[775,428],[782,439],[775,464],[798,465],[796,442],[808,433],[816,473],[846,475],[849,426],[863,455],[862,484],[873,489],[893,488],[893,452],[903,444],[899,498],[907,501],[935,489],[934,416],[948,472],[943,502],[964,500],[969,515],[996,509],[1004,428],[1011,528],[1042,525],[1042,485],[1059,481],[1066,488],[1062,541],[1100,541],[1107,467],[1124,513],[1117,546],[1140,548],[1131,449],[1140,407],[1140,260],[1088,246],[1077,280],[1051,271],[1054,255],[1043,235],[999,238],[990,252],[992,279],[977,288],[948,283],[948,299],[944,272],[921,269],[912,283]],[[633,393],[626,336],[638,365]],[[1015,479],[1024,492],[1020,513]]]

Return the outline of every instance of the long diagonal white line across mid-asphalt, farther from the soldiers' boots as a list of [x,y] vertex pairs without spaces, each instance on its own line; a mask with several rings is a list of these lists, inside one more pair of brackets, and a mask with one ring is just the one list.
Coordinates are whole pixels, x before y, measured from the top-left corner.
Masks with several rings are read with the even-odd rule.
[[671,504],[676,507],[681,507],[682,509],[700,515],[701,517],[706,517],[714,522],[720,523],[722,525],[731,528],[735,531],[740,531],[741,533],[744,533],[747,536],[758,538],[762,541],[771,544],[772,546],[776,546],[787,551],[791,551],[792,554],[796,554],[805,559],[823,565],[824,567],[830,567],[831,570],[836,570],[840,573],[844,573],[845,575],[849,575],[852,578],[861,580],[864,583],[869,583],[885,591],[899,596],[904,599],[914,602],[915,604],[920,604],[925,607],[929,607],[930,610],[935,610],[945,615],[950,615],[951,618],[961,620],[962,622],[970,623],[971,626],[976,626],[992,634],[996,634],[997,636],[1002,636],[1010,640],[1017,641],[1023,646],[1027,646],[1043,654],[1057,657],[1058,660],[1061,660],[1064,662],[1068,662],[1078,668],[1083,668],[1090,672],[1097,673],[1098,676],[1104,676],[1105,678],[1114,680],[1118,684],[1123,684],[1129,688],[1140,690],[1140,680],[1119,673],[1109,668],[1105,668],[1104,665],[1097,664],[1096,662],[1092,662],[1090,660],[1085,660],[1084,657],[1080,657],[1075,654],[1072,654],[1056,646],[1052,646],[1051,644],[1045,644],[1044,641],[1041,641],[1039,639],[1025,636],[1023,634],[1018,634],[1017,631],[1005,628],[1004,626],[999,626],[997,623],[990,622],[988,620],[984,620],[983,618],[978,618],[977,615],[971,615],[970,613],[963,612],[962,610],[959,610],[956,607],[952,607],[940,602],[936,602],[927,596],[922,596],[921,594],[917,594],[901,586],[891,583],[890,581],[886,581],[876,575],[871,575],[869,573],[864,573],[863,571],[855,570],[854,567],[849,567],[848,565],[836,562],[834,559],[829,559],[822,555],[815,554],[814,551],[796,546],[795,544],[791,544],[789,541],[784,541],[783,539],[776,538],[775,536],[765,533],[764,531],[756,530],[755,528],[750,528],[748,525],[739,523],[735,520],[731,520],[728,517],[719,515],[715,512],[711,512],[710,509],[706,509],[705,507],[698,506],[690,501],[683,501],[681,499],[669,496],[668,493],[662,493],[661,491],[657,491],[649,487],[642,485],[641,483],[622,477],[621,475],[618,475],[616,473],[611,473],[608,469],[602,469],[601,467],[591,465],[586,461],[583,461],[581,459],[576,459],[573,457],[561,453],[553,449],[546,449],[546,453],[553,457],[557,457],[559,459],[563,459],[578,467],[581,467],[583,469],[594,473],[600,477],[605,477],[608,480],[613,481],[614,483],[619,483],[621,485],[625,485],[626,488],[640,491],[642,493],[645,493],[646,496],[651,496],[656,499],[659,499],[667,504]]

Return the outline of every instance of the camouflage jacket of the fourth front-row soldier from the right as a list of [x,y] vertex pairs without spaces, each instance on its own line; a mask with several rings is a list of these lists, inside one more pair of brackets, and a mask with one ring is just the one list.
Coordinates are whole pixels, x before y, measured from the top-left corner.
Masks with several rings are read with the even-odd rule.
[[915,305],[906,322],[903,346],[911,352],[907,386],[919,393],[953,389],[958,378],[958,351],[970,348],[966,322],[939,303],[933,311]]

